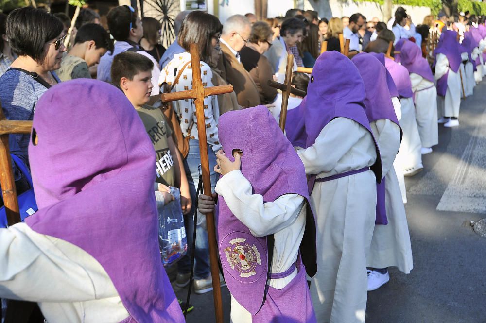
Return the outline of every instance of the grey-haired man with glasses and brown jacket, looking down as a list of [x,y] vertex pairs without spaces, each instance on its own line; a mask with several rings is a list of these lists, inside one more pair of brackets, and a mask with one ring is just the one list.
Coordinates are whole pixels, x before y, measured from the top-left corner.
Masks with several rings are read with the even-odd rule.
[[257,85],[241,63],[240,51],[249,42],[251,25],[242,15],[229,17],[223,25],[220,46],[223,51],[223,65],[226,81],[233,85],[238,104],[247,108],[260,104]]

